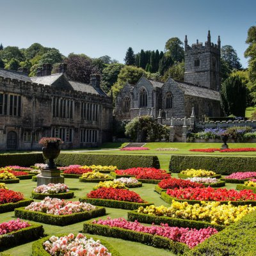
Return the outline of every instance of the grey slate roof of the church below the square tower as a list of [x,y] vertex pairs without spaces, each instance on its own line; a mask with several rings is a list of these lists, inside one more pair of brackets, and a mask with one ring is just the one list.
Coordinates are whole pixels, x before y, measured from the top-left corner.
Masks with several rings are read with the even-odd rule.
[[220,92],[215,90],[184,82],[177,82],[177,84],[185,95],[220,101]]

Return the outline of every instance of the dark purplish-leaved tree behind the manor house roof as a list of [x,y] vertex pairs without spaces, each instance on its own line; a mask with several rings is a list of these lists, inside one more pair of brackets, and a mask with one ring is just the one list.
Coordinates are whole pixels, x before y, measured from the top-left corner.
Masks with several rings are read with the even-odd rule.
[[93,66],[92,59],[84,54],[71,53],[64,62],[67,63],[67,76],[74,81],[89,84],[90,75],[99,73]]

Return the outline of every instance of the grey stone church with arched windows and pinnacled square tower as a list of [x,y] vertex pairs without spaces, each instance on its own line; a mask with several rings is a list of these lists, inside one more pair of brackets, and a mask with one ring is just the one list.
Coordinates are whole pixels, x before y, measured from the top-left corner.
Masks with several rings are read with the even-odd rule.
[[197,40],[190,46],[186,36],[184,81],[169,77],[163,83],[142,76],[136,84],[126,83],[116,97],[116,119],[149,115],[170,125],[172,118],[188,118],[192,112],[196,120],[221,116],[220,44],[220,36],[217,44],[211,42],[210,31],[204,45]]

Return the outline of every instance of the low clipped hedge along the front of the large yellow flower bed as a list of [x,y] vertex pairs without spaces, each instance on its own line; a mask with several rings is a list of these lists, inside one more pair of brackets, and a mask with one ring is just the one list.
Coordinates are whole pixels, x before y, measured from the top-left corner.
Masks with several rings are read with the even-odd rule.
[[166,216],[154,216],[150,214],[139,213],[138,210],[130,211],[127,213],[129,221],[138,220],[141,223],[155,223],[160,225],[161,223],[167,223],[170,227],[182,227],[182,228],[207,228],[213,227],[217,230],[225,228],[223,225],[211,224],[207,221],[196,221],[196,220],[184,220],[180,218],[172,218]]

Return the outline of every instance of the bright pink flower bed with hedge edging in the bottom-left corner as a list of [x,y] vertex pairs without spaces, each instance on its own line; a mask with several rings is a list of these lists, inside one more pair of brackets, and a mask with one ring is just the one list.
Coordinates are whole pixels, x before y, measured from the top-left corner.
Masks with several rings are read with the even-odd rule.
[[[44,235],[42,225],[30,224],[26,221],[10,220],[0,223],[0,248],[6,249],[38,239]],[[12,242],[10,243],[10,237]]]

